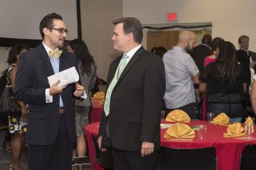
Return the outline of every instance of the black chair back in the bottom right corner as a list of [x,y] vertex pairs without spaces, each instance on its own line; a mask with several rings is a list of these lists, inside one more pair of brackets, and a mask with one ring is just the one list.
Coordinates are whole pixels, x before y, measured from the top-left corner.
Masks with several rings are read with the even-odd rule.
[[240,156],[240,170],[256,169],[256,145],[247,145]]

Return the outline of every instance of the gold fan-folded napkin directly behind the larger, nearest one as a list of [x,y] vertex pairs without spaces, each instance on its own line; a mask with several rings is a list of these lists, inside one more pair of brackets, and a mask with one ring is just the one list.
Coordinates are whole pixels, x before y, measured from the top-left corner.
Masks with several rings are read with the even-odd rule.
[[189,123],[191,121],[191,118],[188,116],[186,112],[176,109],[174,111],[171,111],[166,116],[166,121],[177,123]]

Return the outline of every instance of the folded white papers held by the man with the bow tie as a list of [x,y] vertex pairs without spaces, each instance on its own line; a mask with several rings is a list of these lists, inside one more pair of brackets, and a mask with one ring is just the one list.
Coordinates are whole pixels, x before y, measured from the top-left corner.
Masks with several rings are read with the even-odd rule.
[[60,80],[58,86],[65,87],[68,84],[77,82],[79,80],[79,75],[75,67],[70,67],[69,69],[65,69],[62,72],[58,72],[48,77],[50,86],[55,84],[58,80]]

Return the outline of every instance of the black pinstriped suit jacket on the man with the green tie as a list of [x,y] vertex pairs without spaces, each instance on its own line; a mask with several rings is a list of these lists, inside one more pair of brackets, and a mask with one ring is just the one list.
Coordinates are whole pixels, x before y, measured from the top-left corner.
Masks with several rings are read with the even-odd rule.
[[[122,56],[110,65],[110,85]],[[140,47],[129,61],[114,86],[110,99],[110,140],[112,147],[140,151],[142,141],[160,144],[160,112],[165,92],[164,63],[159,57]],[[105,122],[102,113],[99,135]]]

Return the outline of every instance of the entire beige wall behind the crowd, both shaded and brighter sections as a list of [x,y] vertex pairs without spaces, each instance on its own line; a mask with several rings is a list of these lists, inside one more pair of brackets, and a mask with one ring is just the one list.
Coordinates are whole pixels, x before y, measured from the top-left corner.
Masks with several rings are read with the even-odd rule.
[[[250,36],[256,51],[255,0],[82,0],[82,39],[95,57],[97,74],[106,79],[110,62],[119,55],[110,40],[112,21],[134,16],[143,24],[169,23],[166,13],[177,12],[178,23],[213,23],[213,37],[220,36],[236,46],[242,34]],[[8,51],[0,47],[0,71],[6,68]]]

